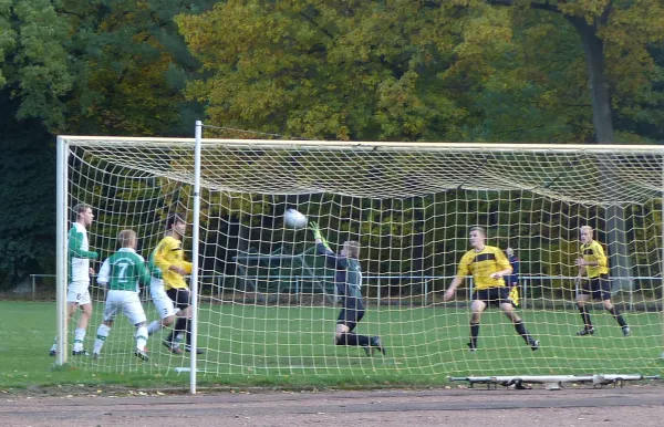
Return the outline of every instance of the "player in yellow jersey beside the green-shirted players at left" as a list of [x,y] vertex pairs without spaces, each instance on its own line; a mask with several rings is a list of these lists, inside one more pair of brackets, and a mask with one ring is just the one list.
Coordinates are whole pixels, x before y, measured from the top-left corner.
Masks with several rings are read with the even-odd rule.
[[[175,306],[179,309],[175,327],[168,337],[164,341],[173,353],[177,351],[175,336],[185,333],[187,343],[186,351],[191,351],[191,294],[189,287],[185,281],[185,275],[191,272],[191,263],[185,260],[183,249],[183,237],[187,230],[187,223],[184,219],[174,215],[166,222],[166,236],[159,241],[154,253],[154,264],[159,269],[164,281],[166,294],[173,300]],[[203,351],[198,348],[197,354]]]

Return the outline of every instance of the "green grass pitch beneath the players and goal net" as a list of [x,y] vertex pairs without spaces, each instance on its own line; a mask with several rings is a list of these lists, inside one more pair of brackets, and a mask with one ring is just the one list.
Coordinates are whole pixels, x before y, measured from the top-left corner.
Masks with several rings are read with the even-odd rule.
[[[92,350],[102,305],[87,329]],[[148,309],[148,319],[154,312]],[[54,367],[48,356],[54,335],[54,304],[0,302],[0,389],[31,385],[82,384],[127,387],[188,386],[189,376],[178,374],[189,357],[170,355],[159,337],[148,342],[152,360],[133,355],[133,327],[117,320],[103,357],[70,358]],[[381,335],[387,356],[367,357],[361,348],[332,343],[338,310],[334,308],[203,304],[199,356],[200,386],[375,387],[442,385],[448,375],[546,375],[625,373],[658,375],[664,368],[662,314],[627,312],[633,335],[623,337],[615,321],[594,310],[594,336],[578,337],[575,311],[527,310],[521,315],[541,350],[530,348],[497,310],[481,320],[479,351],[465,343],[468,312],[444,308],[371,306],[357,333]],[[71,346],[70,346],[71,348]]]

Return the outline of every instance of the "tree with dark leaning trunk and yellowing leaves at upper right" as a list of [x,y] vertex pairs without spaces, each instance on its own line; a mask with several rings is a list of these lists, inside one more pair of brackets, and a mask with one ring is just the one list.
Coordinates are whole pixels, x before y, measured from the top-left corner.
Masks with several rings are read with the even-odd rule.
[[[481,2],[484,3],[484,2]],[[657,0],[487,0],[492,6],[560,13],[581,38],[589,71],[595,140],[612,144],[612,95],[650,91],[655,69],[649,44],[664,40],[664,7]]]

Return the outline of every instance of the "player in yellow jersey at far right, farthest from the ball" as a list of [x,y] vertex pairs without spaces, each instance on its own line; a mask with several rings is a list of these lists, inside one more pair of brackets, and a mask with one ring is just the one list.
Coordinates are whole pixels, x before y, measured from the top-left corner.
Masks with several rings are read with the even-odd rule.
[[[581,232],[581,249],[580,257],[577,259],[577,265],[579,265],[579,274],[577,275],[577,306],[581,312],[581,319],[583,319],[583,329],[577,332],[577,335],[592,335],[594,334],[594,327],[590,320],[590,314],[585,310],[585,303],[591,298],[601,300],[604,309],[613,319],[618,321],[621,326],[623,335],[630,336],[632,333],[630,326],[623,319],[622,314],[618,311],[618,308],[611,303],[611,282],[609,281],[609,263],[604,249],[602,246],[593,239],[593,229],[590,226],[583,226],[580,229]],[[583,278],[587,280],[583,280]]]

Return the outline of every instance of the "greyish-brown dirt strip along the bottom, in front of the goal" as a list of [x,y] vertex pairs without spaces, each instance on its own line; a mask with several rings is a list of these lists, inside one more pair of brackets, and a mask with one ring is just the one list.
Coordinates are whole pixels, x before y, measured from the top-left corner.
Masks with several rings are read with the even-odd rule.
[[[32,390],[42,393],[43,390]],[[0,395],[2,426],[660,426],[664,387],[274,392],[70,389]],[[80,393],[80,394],[73,394]],[[85,394],[86,393],[86,394]]]

